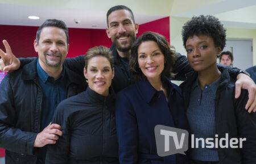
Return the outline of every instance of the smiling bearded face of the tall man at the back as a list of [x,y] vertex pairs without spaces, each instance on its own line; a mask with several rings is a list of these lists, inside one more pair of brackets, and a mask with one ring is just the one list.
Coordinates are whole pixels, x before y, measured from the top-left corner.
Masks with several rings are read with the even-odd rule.
[[139,27],[137,23],[133,23],[131,13],[127,10],[113,11],[109,15],[108,21],[109,28],[106,28],[106,33],[116,45],[118,51],[130,51]]

